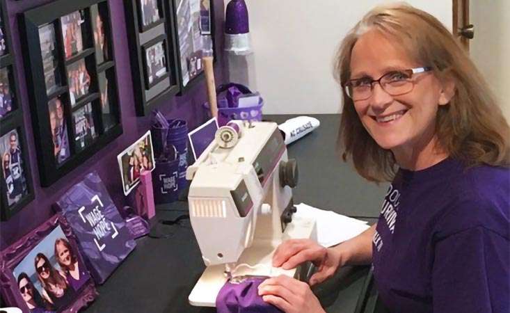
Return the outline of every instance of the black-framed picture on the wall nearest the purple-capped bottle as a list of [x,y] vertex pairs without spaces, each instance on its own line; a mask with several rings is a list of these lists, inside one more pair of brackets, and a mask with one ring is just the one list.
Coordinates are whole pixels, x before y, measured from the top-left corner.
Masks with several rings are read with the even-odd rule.
[[[180,95],[204,77],[202,56],[216,55],[214,43],[214,2],[212,0],[166,0],[173,24]],[[214,58],[214,61],[216,58]]]

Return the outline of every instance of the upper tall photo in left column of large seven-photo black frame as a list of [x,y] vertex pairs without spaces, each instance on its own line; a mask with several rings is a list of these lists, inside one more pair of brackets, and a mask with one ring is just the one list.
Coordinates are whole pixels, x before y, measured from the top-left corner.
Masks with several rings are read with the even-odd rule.
[[46,24],[39,28],[39,42],[41,47],[42,67],[45,72],[46,93],[53,93],[61,86],[58,72],[58,51],[56,49],[55,28],[53,24]]

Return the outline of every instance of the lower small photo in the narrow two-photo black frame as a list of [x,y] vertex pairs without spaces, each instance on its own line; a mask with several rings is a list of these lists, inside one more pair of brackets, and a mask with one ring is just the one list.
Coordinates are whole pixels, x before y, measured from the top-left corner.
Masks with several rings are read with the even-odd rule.
[[166,77],[166,39],[159,37],[142,47],[143,68],[145,70],[145,88],[150,89]]

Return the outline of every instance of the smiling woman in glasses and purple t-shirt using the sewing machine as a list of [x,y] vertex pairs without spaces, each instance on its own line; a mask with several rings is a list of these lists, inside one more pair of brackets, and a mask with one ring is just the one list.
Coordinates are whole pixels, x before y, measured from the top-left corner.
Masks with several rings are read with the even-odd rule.
[[[369,12],[342,42],[343,159],[392,181],[378,223],[333,248],[282,243],[273,265],[369,264],[391,312],[509,312],[507,121],[481,74],[438,20],[406,5]],[[324,312],[308,284],[259,288],[285,312]]]

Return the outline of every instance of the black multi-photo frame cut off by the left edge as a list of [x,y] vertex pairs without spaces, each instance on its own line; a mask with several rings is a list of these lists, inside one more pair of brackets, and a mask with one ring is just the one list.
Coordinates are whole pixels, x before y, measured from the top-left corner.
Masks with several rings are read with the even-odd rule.
[[[0,142],[0,157],[1,168],[0,170],[0,220],[8,220],[18,211],[20,211],[26,204],[29,204],[34,198],[33,183],[31,175],[31,166],[29,162],[29,147],[26,143],[26,131],[24,127],[23,111],[21,102],[19,102],[18,78],[15,64],[15,56],[12,53],[12,38],[10,36],[10,27],[8,23],[8,16],[6,10],[6,2],[0,3],[0,27],[2,38],[0,38],[0,45],[3,45],[4,53],[0,56],[0,73],[1,73],[1,107],[4,105],[10,106],[10,110],[0,118],[0,141],[3,139],[10,139],[10,134],[15,133],[16,145],[19,147],[19,153],[16,157],[11,154],[10,148],[7,150],[6,145]],[[6,97],[5,79],[8,81],[9,97]],[[2,148],[5,147],[5,148]],[[3,157],[8,153],[9,164],[8,168],[4,168]],[[15,163],[11,163],[11,159],[16,159]],[[22,180],[19,180],[22,179]],[[22,193],[15,195],[13,191],[19,190],[19,182],[22,183]]]

